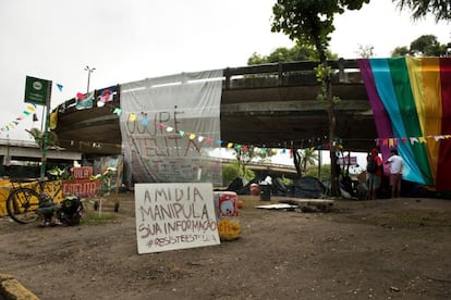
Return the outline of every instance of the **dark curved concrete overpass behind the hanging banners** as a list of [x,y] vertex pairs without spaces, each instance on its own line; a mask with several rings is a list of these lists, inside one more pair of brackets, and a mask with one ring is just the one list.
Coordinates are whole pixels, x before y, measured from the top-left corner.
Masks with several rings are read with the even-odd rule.
[[[374,147],[376,126],[355,60],[331,61],[337,137],[345,150]],[[320,85],[314,62],[292,62],[224,68],[221,139],[267,148],[305,148],[328,142],[325,103],[316,100]],[[120,86],[118,86],[120,89]],[[121,153],[120,92],[111,105],[75,109],[75,99],[59,107],[54,129],[60,146],[85,154]]]

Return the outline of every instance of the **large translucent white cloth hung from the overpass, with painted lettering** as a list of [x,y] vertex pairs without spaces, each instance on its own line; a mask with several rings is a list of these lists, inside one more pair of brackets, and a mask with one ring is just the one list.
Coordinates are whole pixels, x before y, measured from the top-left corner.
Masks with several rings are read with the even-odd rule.
[[222,185],[219,147],[222,70],[121,85],[120,117],[129,182]]

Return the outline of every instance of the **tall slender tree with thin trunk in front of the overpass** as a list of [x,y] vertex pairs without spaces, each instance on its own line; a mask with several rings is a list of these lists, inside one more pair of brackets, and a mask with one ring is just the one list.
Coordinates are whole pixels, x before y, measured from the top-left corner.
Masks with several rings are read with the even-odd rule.
[[[369,0],[278,0],[272,7],[271,30],[283,33],[298,45],[312,45],[318,52],[317,78],[321,83],[319,99],[326,100],[329,121],[330,161],[337,162],[336,114],[331,68],[327,64],[330,35],[336,29],[333,17],[345,10],[359,10]],[[339,174],[331,168],[331,195],[339,196]]]

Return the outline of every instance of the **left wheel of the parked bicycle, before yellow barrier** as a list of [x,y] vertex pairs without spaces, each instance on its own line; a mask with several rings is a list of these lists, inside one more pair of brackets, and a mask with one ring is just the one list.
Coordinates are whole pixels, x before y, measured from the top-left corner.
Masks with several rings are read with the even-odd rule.
[[31,188],[19,188],[8,196],[8,214],[17,223],[27,224],[38,218],[39,193]]

